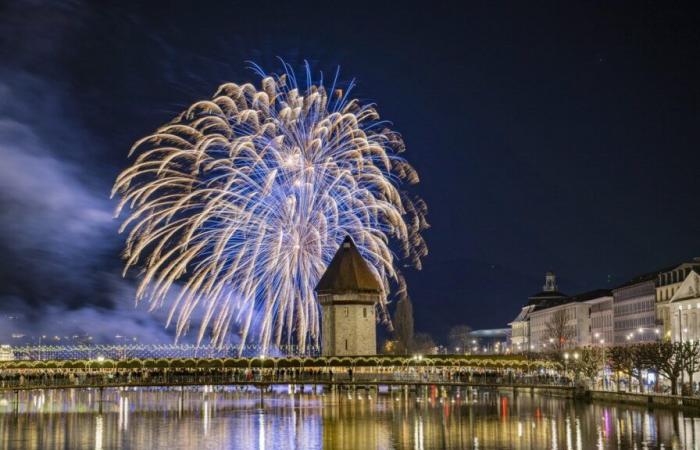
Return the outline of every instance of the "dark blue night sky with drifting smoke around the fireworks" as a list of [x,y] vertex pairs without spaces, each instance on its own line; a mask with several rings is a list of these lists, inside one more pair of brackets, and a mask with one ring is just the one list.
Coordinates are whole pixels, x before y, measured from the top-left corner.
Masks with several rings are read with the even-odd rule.
[[575,294],[700,256],[696,10],[126,3],[0,3],[5,331],[168,339],[121,279],[112,183],[136,139],[278,56],[339,65],[402,133],[431,223],[419,331],[506,326],[547,270]]

